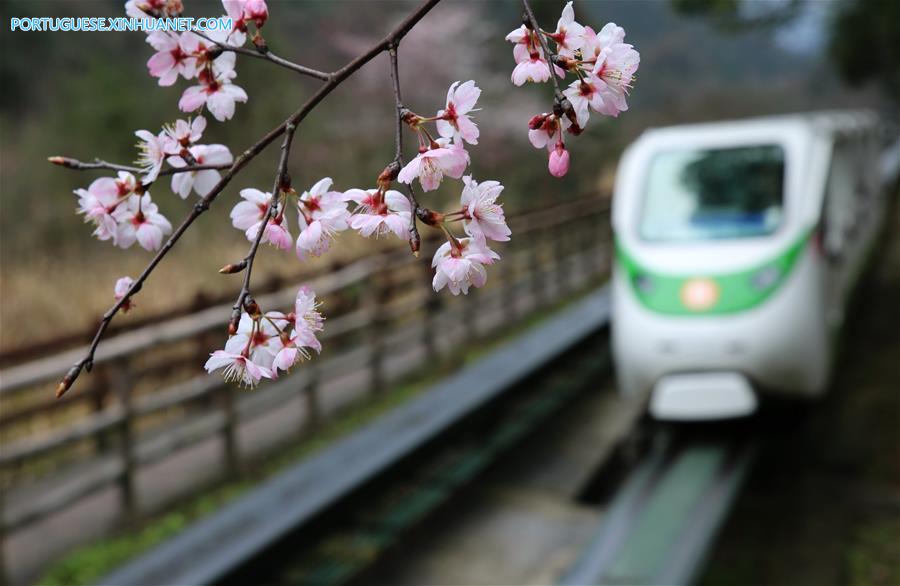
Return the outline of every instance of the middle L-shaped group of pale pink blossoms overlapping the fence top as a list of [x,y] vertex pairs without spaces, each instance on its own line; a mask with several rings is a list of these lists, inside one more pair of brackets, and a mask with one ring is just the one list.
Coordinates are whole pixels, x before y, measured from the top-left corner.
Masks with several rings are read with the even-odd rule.
[[[435,116],[408,113],[407,124],[419,137],[419,154],[396,175],[401,183],[418,179],[425,191],[436,189],[445,176],[462,179],[459,207],[446,214],[431,212],[423,220],[447,236],[432,261],[434,289],[447,287],[454,295],[485,284],[485,265],[500,258],[487,242],[504,242],[510,236],[503,207],[497,203],[503,186],[497,181],[479,183],[471,175],[463,176],[470,161],[464,145],[476,144],[478,139],[478,127],[469,113],[480,92],[473,81],[456,82],[450,86],[445,107]],[[425,127],[427,122],[436,123],[440,138],[431,135]],[[348,229],[363,237],[394,234],[404,239],[414,210],[407,196],[390,189],[390,183],[390,177],[382,177],[377,187],[341,192],[333,190],[333,180],[325,177],[300,194],[281,189],[274,196],[247,188],[241,190],[243,201],[231,210],[231,222],[249,241],[256,239],[265,224],[261,242],[280,250],[293,247],[301,260],[324,254],[334,238]],[[291,217],[297,219],[296,239],[291,234]],[[465,237],[456,238],[451,233],[449,224],[453,222],[462,224]]]

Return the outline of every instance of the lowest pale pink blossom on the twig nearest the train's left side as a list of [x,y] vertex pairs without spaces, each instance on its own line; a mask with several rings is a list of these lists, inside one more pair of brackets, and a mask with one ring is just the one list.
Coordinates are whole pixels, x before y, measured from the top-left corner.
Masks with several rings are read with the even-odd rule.
[[445,286],[454,295],[468,294],[469,287],[483,287],[487,282],[484,265],[493,264],[500,255],[477,238],[461,238],[445,242],[431,261],[435,269],[432,287],[440,291]]

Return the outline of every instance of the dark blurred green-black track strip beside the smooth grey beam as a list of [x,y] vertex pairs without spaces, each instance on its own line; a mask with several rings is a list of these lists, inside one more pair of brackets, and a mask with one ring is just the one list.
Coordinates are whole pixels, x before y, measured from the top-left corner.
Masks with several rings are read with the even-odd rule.
[[325,531],[310,538],[301,529],[219,583],[327,586],[360,579],[523,439],[590,391],[607,372],[606,343],[594,336],[581,346],[549,373],[512,389],[508,397],[345,502],[327,520]]

